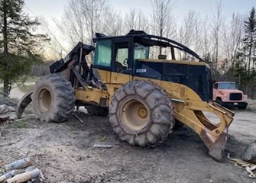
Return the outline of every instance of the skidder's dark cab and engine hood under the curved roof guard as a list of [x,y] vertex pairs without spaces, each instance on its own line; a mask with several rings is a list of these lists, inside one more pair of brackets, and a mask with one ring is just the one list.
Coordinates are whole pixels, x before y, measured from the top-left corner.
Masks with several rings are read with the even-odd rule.
[[[176,82],[192,88],[203,101],[212,100],[212,76],[209,66],[189,48],[164,37],[131,30],[125,36],[96,34],[96,51],[92,68],[120,73],[120,81],[134,78]],[[185,52],[199,62],[176,60],[175,50]],[[164,54],[163,54],[164,53]],[[109,79],[109,83],[113,80]],[[118,79],[117,82],[118,84]],[[123,83],[123,80],[122,82]]]

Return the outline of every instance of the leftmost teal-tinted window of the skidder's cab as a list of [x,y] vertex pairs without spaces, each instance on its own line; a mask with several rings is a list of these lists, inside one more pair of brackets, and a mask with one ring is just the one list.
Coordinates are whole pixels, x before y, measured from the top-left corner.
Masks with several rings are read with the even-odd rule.
[[111,66],[112,40],[98,40],[95,53],[93,65]]

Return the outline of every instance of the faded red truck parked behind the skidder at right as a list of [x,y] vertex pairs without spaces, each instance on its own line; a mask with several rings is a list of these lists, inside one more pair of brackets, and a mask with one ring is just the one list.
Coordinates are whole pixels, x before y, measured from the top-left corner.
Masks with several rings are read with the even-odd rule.
[[213,101],[226,108],[246,109],[248,96],[236,87],[235,82],[214,82]]

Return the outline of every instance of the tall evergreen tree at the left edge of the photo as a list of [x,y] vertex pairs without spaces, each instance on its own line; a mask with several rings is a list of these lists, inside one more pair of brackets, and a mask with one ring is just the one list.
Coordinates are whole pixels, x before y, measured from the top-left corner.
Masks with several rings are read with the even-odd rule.
[[23,11],[24,0],[0,0],[0,80],[4,82],[3,94],[10,92],[11,82],[25,74],[35,62],[47,37],[33,34],[40,23]]

